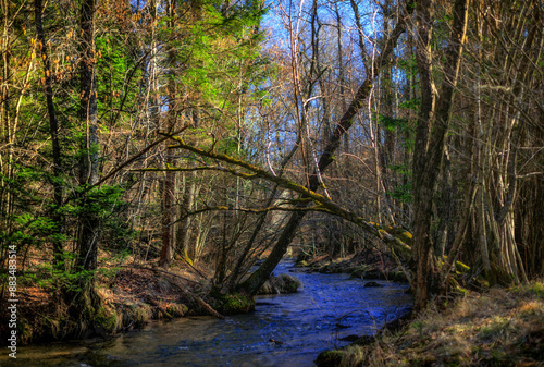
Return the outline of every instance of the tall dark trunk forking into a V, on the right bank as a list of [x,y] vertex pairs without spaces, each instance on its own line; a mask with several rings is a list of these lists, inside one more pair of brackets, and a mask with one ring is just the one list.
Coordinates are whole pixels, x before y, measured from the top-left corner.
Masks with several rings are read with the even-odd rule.
[[429,298],[429,288],[434,278],[431,258],[432,204],[436,192],[437,178],[444,157],[446,133],[454,90],[467,32],[468,0],[457,0],[454,5],[450,44],[444,66],[444,82],[440,98],[435,103],[431,71],[430,37],[432,32],[430,0],[418,2],[418,27],[420,39],[417,44],[417,60],[421,78],[421,110],[416,129],[416,154],[413,158],[413,240],[412,257],[417,279],[415,307],[422,309]]

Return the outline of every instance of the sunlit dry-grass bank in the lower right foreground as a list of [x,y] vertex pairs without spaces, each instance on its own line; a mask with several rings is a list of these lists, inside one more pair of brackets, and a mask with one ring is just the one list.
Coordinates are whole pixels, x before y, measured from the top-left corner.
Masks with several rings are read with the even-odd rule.
[[380,332],[337,351],[332,366],[542,366],[544,282],[469,292],[434,303],[399,331]]

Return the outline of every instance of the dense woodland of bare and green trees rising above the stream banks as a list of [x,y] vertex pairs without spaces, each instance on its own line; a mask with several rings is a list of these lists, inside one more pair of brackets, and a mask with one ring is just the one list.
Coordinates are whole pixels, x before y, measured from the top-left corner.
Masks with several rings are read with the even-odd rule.
[[0,3],[2,301],[10,249],[75,319],[134,264],[386,253],[417,309],[544,276],[541,1]]

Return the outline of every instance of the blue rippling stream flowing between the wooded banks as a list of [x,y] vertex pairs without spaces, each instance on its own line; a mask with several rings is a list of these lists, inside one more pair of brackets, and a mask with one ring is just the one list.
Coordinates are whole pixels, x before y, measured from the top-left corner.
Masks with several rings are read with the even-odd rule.
[[[293,271],[284,261],[275,273]],[[406,285],[376,281],[364,288],[347,274],[292,272],[304,288],[295,294],[257,297],[256,311],[219,320],[189,317],[151,322],[108,341],[20,347],[1,366],[314,366],[317,355],[348,344],[339,339],[372,334],[410,305]],[[270,339],[282,343],[270,342]]]

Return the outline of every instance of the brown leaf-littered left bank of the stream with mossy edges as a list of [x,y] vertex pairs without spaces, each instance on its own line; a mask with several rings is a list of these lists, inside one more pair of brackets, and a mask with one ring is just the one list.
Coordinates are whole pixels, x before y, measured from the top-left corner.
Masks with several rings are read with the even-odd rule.
[[[108,271],[97,274],[100,308],[85,321],[69,317],[70,305],[60,297],[55,284],[37,286],[39,282],[35,279],[32,282],[22,281],[18,290],[17,345],[92,337],[107,339],[140,329],[151,320],[206,315],[222,318],[222,313],[231,315],[255,307],[252,299],[240,305],[237,297],[210,296],[212,269],[206,265],[194,267],[178,259],[166,271],[159,268],[156,261],[127,264],[112,264],[104,267]],[[33,276],[51,277],[39,271]],[[299,285],[290,276],[273,277],[259,294],[296,292]],[[8,331],[7,316],[0,316],[2,337]],[[7,338],[1,340],[0,344],[5,344]]]

